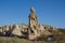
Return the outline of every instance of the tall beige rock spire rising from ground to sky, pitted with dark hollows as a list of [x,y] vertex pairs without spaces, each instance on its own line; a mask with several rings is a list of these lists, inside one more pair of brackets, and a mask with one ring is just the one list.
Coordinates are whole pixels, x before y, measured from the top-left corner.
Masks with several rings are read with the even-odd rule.
[[39,35],[38,29],[39,29],[39,24],[38,24],[38,17],[36,15],[35,9],[30,9],[30,14],[29,14],[29,26],[28,26],[28,39],[34,40]]

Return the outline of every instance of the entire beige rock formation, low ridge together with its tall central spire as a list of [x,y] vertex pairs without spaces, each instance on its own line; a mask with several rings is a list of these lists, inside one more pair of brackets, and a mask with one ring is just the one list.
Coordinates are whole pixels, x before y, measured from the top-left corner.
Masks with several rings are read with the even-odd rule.
[[26,37],[29,40],[35,40],[40,34],[52,35],[51,30],[55,30],[51,26],[40,25],[38,23],[38,16],[36,15],[36,11],[34,8],[30,9],[29,14],[29,24],[25,25],[8,25],[0,27],[0,35],[17,35],[17,37]]

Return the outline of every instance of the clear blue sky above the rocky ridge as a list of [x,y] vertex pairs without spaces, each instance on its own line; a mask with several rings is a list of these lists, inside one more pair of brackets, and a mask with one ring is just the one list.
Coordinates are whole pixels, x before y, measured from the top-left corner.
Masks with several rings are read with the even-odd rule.
[[0,0],[0,26],[28,24],[31,6],[40,24],[65,28],[65,0]]

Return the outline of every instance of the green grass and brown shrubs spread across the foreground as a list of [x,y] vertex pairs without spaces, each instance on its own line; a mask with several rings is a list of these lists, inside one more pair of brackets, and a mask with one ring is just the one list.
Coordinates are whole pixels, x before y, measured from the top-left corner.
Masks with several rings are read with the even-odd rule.
[[26,39],[20,39],[16,37],[0,37],[0,43],[65,43],[65,29],[58,29],[58,31],[53,31],[55,41],[47,41],[47,37],[41,34],[37,41],[29,41]]

